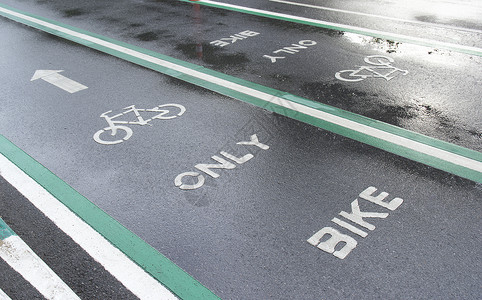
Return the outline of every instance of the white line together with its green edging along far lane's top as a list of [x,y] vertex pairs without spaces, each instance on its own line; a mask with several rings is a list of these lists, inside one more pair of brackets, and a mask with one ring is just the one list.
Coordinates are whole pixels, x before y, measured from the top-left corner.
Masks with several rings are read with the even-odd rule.
[[236,12],[240,12],[240,13],[244,13],[244,14],[250,14],[250,15],[255,15],[255,16],[260,16],[260,17],[265,17],[265,18],[276,19],[276,20],[282,20],[282,21],[294,22],[294,23],[305,24],[305,25],[316,26],[316,27],[322,27],[322,28],[327,28],[327,29],[333,29],[333,30],[337,30],[337,31],[351,32],[351,33],[371,36],[371,37],[375,37],[375,38],[381,38],[381,39],[390,40],[390,41],[405,42],[405,43],[419,45],[419,46],[441,48],[441,49],[452,50],[452,51],[455,51],[455,52],[460,52],[460,53],[465,53],[465,54],[482,56],[482,49],[477,48],[477,47],[470,47],[470,46],[458,45],[458,44],[453,44],[453,43],[446,43],[446,42],[441,42],[441,41],[436,41],[436,40],[424,39],[424,38],[419,38],[419,37],[413,37],[413,36],[408,36],[408,35],[403,35],[403,34],[373,30],[373,29],[368,29],[368,28],[363,28],[363,27],[357,27],[357,26],[351,26],[351,25],[345,25],[345,24],[338,24],[338,23],[333,23],[333,22],[326,22],[326,21],[321,21],[321,20],[316,20],[316,19],[298,17],[298,16],[293,16],[293,15],[288,15],[288,14],[272,12],[272,11],[268,11],[268,10],[261,10],[261,9],[244,7],[244,6],[233,5],[233,4],[222,3],[222,2],[216,2],[216,1],[211,1],[211,0],[194,0],[194,1],[193,0],[179,0],[179,1],[202,4],[202,5],[221,8],[221,9],[225,9],[225,10],[236,11]]

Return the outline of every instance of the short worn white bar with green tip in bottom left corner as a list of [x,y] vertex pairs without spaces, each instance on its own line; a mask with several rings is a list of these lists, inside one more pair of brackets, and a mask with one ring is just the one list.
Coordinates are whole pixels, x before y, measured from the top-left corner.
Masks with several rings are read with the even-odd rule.
[[80,300],[70,287],[1,218],[0,257],[30,282],[46,299]]

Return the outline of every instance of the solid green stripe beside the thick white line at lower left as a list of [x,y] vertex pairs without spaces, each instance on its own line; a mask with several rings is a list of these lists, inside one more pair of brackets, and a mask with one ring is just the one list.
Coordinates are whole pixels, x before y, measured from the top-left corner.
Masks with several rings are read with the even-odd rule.
[[[1,134],[0,153],[176,296],[181,299],[219,299],[159,251],[122,226]],[[0,222],[1,228],[2,222]]]

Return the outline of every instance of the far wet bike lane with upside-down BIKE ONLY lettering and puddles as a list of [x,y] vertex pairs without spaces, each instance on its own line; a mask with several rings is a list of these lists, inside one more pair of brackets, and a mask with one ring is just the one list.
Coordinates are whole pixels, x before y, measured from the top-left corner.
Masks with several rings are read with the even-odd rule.
[[[478,87],[482,74],[477,55],[176,1],[119,1],[114,7],[62,1],[44,5],[15,3],[15,7],[481,150]],[[243,32],[246,35],[240,34]],[[408,74],[398,72],[389,81],[371,77],[349,82],[335,77],[342,70],[370,67],[365,59],[371,55],[394,60],[393,68]],[[389,72],[390,68],[383,73]]]

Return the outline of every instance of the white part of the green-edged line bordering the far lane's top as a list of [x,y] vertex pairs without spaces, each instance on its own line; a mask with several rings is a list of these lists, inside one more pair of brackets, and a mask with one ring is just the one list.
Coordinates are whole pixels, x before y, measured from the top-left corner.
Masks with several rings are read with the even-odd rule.
[[370,36],[374,36],[374,37],[390,36],[390,39],[407,41],[407,42],[411,42],[411,43],[417,43],[417,44],[420,44],[420,45],[430,45],[431,47],[444,47],[444,48],[447,48],[447,49],[460,49],[460,50],[463,50],[463,51],[476,52],[476,53],[482,52],[482,49],[477,48],[477,47],[471,47],[471,46],[441,42],[441,41],[437,41],[437,40],[429,40],[429,39],[425,39],[425,38],[408,36],[408,35],[404,35],[404,34],[397,34],[397,33],[392,33],[392,32],[379,31],[379,30],[368,29],[368,28],[363,28],[363,27],[357,27],[357,26],[345,25],[345,24],[340,24],[340,23],[333,23],[333,22],[321,21],[321,20],[316,20],[316,19],[310,19],[310,18],[305,18],[305,17],[298,17],[298,16],[294,16],[294,15],[282,14],[282,13],[272,12],[272,11],[268,11],[268,10],[239,6],[239,5],[228,4],[228,3],[223,3],[223,2],[216,2],[216,1],[211,1],[211,0],[200,0],[199,3],[211,4],[213,6],[218,6],[218,7],[229,7],[229,8],[234,9],[234,10],[249,11],[249,12],[252,12],[252,13],[255,13],[255,14],[262,14],[262,15],[273,16],[273,17],[277,17],[277,18],[284,18],[284,19],[291,19],[291,20],[296,20],[296,21],[301,21],[301,22],[308,22],[308,23],[312,23],[312,24],[319,24],[319,25],[322,25],[322,26],[336,27],[336,28],[339,28],[339,30],[342,30],[342,31],[349,31],[349,32],[362,34],[362,35],[370,35]]

